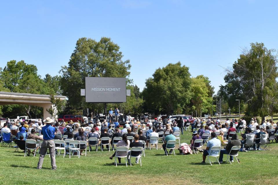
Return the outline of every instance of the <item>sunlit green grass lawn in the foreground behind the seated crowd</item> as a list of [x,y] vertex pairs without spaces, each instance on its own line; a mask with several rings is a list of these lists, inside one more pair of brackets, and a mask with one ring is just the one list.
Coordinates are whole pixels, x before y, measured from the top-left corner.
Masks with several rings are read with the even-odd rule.
[[[189,143],[191,132],[181,136]],[[241,138],[241,137],[240,137]],[[39,155],[24,157],[14,148],[0,147],[1,184],[278,184],[278,144],[270,151],[240,152],[237,162],[202,165],[202,153],[164,156],[160,142],[158,150],[146,149],[142,166],[114,166],[109,156],[113,151],[99,150],[80,159],[74,156],[56,157],[57,170],[52,171],[50,158],[45,157],[43,169],[36,169]],[[224,160],[226,156],[224,155]],[[135,159],[133,158],[133,163]]]

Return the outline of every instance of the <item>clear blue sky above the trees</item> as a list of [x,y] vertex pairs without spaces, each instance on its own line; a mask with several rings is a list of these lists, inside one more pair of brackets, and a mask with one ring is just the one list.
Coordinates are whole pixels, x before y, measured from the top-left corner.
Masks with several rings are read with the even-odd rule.
[[110,37],[142,90],[156,69],[180,61],[215,90],[251,42],[277,46],[278,1],[1,1],[0,67],[10,60],[58,75],[78,38]]

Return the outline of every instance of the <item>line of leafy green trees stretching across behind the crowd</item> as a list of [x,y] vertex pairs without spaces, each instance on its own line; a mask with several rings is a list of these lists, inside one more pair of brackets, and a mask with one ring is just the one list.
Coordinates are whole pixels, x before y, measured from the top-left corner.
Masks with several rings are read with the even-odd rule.
[[[130,61],[122,60],[123,54],[116,43],[106,37],[99,41],[80,38],[68,64],[61,66],[56,76],[47,74],[42,78],[35,65],[23,60],[7,62],[0,68],[0,91],[64,95],[67,100],[59,114],[80,115],[87,108],[94,114],[102,113],[104,107],[102,103],[86,103],[85,97],[80,96],[80,89],[85,88],[85,77],[125,77],[131,96],[125,103],[108,103],[107,109],[117,106],[122,113],[130,115],[142,112],[169,115],[173,112],[200,116],[214,114],[216,98],[222,97],[224,108],[229,106],[235,110],[235,99],[240,99],[242,106],[248,105],[242,109],[246,114],[262,116],[266,115],[266,109],[271,112],[277,110],[277,55],[273,52],[262,43],[252,43],[251,49],[244,50],[233,68],[225,68],[226,84],[220,86],[217,95],[214,95],[214,87],[208,77],[191,77],[189,68],[180,62],[156,69],[140,92],[130,78]],[[42,117],[43,110],[37,106],[0,106],[3,117],[19,114],[38,118]]]

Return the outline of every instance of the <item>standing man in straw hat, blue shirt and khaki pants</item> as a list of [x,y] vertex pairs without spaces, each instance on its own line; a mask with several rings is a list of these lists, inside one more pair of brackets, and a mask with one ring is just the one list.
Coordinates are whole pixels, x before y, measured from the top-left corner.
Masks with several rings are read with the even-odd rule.
[[52,119],[47,117],[43,120],[46,125],[42,127],[41,134],[43,135],[43,143],[41,145],[40,150],[40,158],[38,162],[37,169],[41,169],[43,165],[43,159],[46,154],[47,149],[50,151],[50,158],[51,158],[51,166],[52,170],[56,170],[56,160],[55,160],[55,144],[54,144],[54,136],[55,136],[55,128],[50,125],[53,122]]

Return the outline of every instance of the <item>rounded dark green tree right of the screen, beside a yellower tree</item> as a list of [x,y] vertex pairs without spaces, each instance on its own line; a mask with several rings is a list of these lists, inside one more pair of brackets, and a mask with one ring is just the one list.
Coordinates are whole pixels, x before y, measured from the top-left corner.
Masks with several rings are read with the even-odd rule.
[[191,97],[188,70],[180,62],[156,69],[153,77],[146,80],[146,88],[142,92],[147,108],[164,109],[168,114],[172,109],[181,113]]

